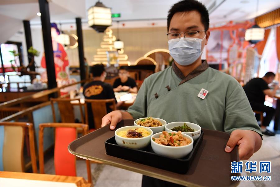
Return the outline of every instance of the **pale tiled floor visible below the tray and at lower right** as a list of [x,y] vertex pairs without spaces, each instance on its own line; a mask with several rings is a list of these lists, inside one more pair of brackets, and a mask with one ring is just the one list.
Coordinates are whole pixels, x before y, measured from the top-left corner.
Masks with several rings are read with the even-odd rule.
[[[280,134],[275,137],[263,137],[262,147],[256,152],[249,161],[271,161],[271,173],[259,174],[258,172],[250,174],[245,172],[243,166],[242,175],[270,175],[271,181],[241,181],[240,187],[279,187],[280,186]],[[244,162],[245,163],[245,162]],[[45,164],[45,173],[54,174],[54,160],[49,159]],[[128,170],[119,169],[109,165],[91,164],[91,173],[93,184],[96,187],[109,186],[141,186],[142,175]],[[86,162],[77,160],[77,176],[87,179]]]

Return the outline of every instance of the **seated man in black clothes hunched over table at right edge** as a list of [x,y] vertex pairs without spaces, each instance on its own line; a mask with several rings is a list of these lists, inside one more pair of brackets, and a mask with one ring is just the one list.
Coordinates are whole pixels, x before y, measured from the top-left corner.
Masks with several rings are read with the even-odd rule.
[[264,105],[265,95],[274,97],[276,90],[279,88],[278,85],[275,85],[273,90],[269,89],[268,84],[270,84],[274,78],[275,74],[272,72],[268,72],[264,75],[263,78],[251,79],[243,87],[252,109],[266,113],[263,121],[262,133],[267,136],[275,135],[275,133],[266,129],[274,116],[275,109]]

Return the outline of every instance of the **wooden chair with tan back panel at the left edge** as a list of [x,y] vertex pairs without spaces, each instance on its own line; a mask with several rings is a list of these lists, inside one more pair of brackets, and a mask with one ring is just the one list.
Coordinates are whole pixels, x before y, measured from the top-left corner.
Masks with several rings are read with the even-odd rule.
[[3,169],[4,171],[25,172],[23,158],[24,132],[28,128],[31,165],[37,173],[34,145],[34,127],[28,122],[0,122],[4,126]]

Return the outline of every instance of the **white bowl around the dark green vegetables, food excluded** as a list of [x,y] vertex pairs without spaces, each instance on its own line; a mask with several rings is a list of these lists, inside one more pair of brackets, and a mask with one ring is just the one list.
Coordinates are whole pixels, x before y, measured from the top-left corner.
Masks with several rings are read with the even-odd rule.
[[182,134],[189,135],[190,137],[192,137],[194,139],[194,141],[196,141],[201,134],[201,127],[195,123],[171,122],[171,123],[166,124],[165,131],[177,132],[177,131],[171,131],[171,129],[174,127],[183,126],[184,123],[186,123],[190,128],[194,129],[194,132],[182,132]]

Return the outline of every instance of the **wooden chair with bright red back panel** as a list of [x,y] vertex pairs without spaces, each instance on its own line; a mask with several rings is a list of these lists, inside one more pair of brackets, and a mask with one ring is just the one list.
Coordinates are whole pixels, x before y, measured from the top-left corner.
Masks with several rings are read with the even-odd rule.
[[[39,125],[39,166],[44,174],[44,128],[55,127],[54,168],[55,175],[76,176],[76,156],[68,152],[70,142],[77,139],[77,128],[83,135],[88,133],[88,125],[82,123],[41,123]],[[91,165],[86,160],[88,182],[91,183]]]

